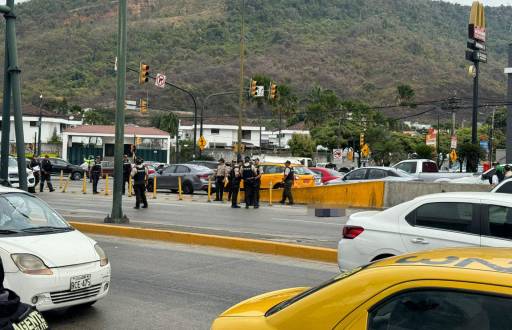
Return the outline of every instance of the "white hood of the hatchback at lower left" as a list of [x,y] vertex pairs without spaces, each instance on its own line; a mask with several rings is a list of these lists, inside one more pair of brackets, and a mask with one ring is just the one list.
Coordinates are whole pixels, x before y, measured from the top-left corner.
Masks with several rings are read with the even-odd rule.
[[1,237],[0,248],[8,253],[29,253],[50,267],[64,267],[99,260],[94,241],[78,230],[64,233]]

